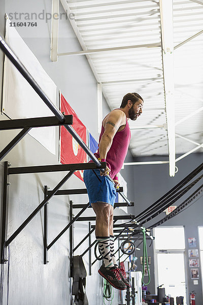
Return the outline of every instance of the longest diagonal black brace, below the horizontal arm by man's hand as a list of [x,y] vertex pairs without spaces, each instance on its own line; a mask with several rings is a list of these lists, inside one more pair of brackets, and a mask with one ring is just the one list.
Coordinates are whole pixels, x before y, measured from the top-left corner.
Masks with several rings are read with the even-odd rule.
[[[6,247],[8,245],[10,245],[10,243],[16,238],[16,236],[24,229],[24,227],[26,227],[26,225],[32,220],[33,217],[35,217],[38,212],[43,208],[43,206],[47,203],[47,201],[53,197],[53,195],[58,191],[58,189],[60,187],[62,187],[62,185],[64,185],[64,183],[67,181],[67,179],[69,179],[75,171],[70,171],[67,175],[65,175],[65,177],[59,182],[59,184],[57,184],[57,186],[53,189],[52,193],[49,194],[46,199],[44,199],[40,205],[38,205],[38,207],[30,214],[30,216],[22,223],[22,225],[20,225],[20,227],[9,237],[9,239],[5,242]],[[48,249],[48,247],[47,247]]]

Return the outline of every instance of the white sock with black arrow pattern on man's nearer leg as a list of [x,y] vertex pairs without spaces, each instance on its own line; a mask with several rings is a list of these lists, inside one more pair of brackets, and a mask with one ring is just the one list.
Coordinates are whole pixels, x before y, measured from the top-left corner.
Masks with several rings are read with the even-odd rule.
[[105,268],[114,267],[110,250],[110,237],[96,236],[96,240],[98,241],[98,247],[100,249],[101,255],[103,256]]

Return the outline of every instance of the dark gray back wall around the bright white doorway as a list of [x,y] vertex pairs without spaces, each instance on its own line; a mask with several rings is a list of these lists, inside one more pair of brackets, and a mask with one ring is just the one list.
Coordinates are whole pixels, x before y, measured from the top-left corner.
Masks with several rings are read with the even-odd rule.
[[[134,161],[156,161],[156,160],[166,160],[165,157],[146,157],[146,158],[137,158]],[[145,208],[149,207],[153,202],[162,197],[166,192],[172,189],[179,181],[181,181],[185,176],[187,176],[191,171],[193,171],[197,166],[199,166],[203,161],[203,154],[196,153],[187,156],[186,158],[180,160],[177,163],[179,168],[178,173],[175,177],[170,177],[168,173],[168,165],[138,165],[134,166],[134,198],[137,202],[134,211],[138,215]],[[199,187],[202,182],[199,182],[196,187],[192,188],[191,191],[187,193],[180,199],[176,205],[179,205],[183,200],[185,200],[189,195],[191,195],[194,190]],[[171,220],[168,220],[163,224],[163,226],[184,226],[185,228],[185,260],[186,260],[186,276],[188,280],[188,289],[187,292],[195,290],[196,292],[196,303],[202,303],[202,283],[201,275],[198,280],[198,285],[193,285],[193,280],[191,280],[190,269],[189,268],[189,259],[188,259],[188,238],[195,237],[197,240],[197,249],[198,245],[198,226],[203,226],[203,204],[202,197],[199,198],[193,205],[181,212],[179,215],[175,216]],[[154,224],[158,220],[162,219],[165,216],[165,213],[162,212],[161,215],[156,217],[154,220],[145,224],[146,227],[149,227],[151,224]],[[148,241],[148,245],[150,242]],[[155,282],[154,282],[154,260],[153,260],[153,246],[149,248],[149,256],[152,256],[152,265],[151,268],[151,283],[148,285],[148,289],[151,294],[156,293]],[[142,251],[137,251],[138,259],[138,270],[141,270],[140,265],[140,256],[142,256]],[[200,268],[199,268],[200,272]],[[147,279],[146,279],[147,281]]]

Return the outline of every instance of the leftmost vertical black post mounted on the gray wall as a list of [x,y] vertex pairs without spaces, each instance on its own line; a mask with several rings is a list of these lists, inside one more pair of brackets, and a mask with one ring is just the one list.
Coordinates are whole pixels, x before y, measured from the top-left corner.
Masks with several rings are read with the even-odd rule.
[[4,189],[3,189],[3,210],[2,210],[2,249],[1,249],[1,264],[5,264],[6,261],[6,246],[5,241],[7,239],[8,231],[8,187],[9,187],[9,164],[6,161],[4,163]]

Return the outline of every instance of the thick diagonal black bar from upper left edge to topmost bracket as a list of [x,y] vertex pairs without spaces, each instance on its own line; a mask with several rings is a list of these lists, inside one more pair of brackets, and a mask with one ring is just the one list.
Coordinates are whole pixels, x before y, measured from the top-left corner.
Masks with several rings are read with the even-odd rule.
[[51,102],[51,100],[47,97],[47,95],[43,92],[42,88],[39,84],[33,79],[33,77],[29,74],[27,69],[20,62],[18,57],[13,53],[13,51],[6,44],[4,39],[0,36],[0,48],[6,54],[6,56],[11,60],[14,66],[18,69],[18,71],[22,74],[22,76],[28,81],[28,83],[32,86],[32,88],[37,92],[37,94],[41,97],[41,99],[45,102],[45,104],[49,107],[49,109],[55,114],[55,116],[61,121],[64,121],[64,115],[58,110],[58,108]]

